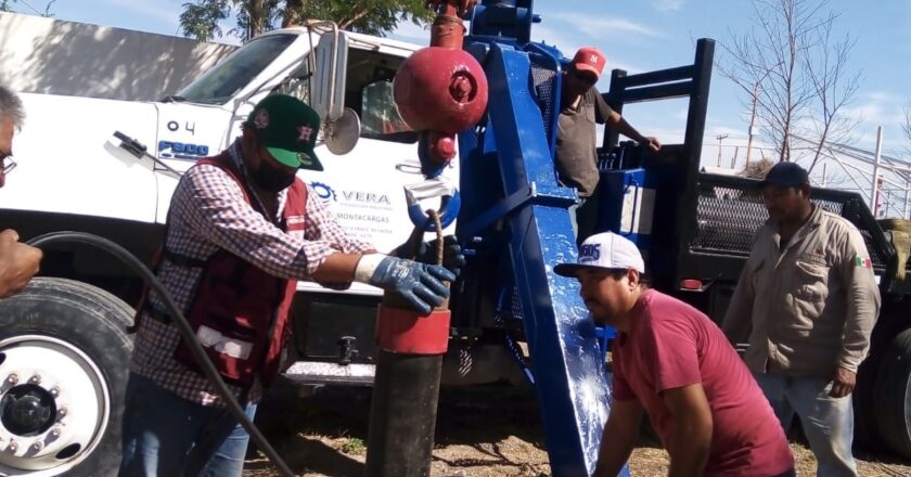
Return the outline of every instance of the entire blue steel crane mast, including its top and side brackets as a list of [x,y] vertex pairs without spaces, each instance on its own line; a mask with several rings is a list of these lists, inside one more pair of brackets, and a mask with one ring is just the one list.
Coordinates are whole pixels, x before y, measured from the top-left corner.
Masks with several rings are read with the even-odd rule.
[[578,283],[553,273],[576,259],[567,207],[577,197],[556,181],[560,53],[529,42],[539,21],[531,0],[474,9],[465,50],[484,66],[489,105],[459,137],[457,234],[479,268],[500,273],[492,286],[504,287],[505,313],[523,323],[553,475],[581,476],[594,470],[611,391]]

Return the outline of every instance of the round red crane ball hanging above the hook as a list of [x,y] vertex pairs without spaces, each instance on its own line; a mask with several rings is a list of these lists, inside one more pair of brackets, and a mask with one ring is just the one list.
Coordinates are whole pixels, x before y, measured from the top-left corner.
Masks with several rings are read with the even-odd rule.
[[465,51],[428,47],[399,66],[393,93],[411,129],[454,136],[474,126],[487,108],[487,77]]

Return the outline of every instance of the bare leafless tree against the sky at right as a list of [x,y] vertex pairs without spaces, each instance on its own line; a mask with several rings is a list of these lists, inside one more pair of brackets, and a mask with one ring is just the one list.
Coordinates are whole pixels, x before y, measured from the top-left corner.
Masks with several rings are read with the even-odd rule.
[[[848,70],[854,40],[833,39],[837,14],[827,0],[753,0],[753,27],[721,43],[728,56],[719,72],[741,87],[758,118],[761,136],[779,160],[795,159],[795,136],[814,144],[844,139],[855,125],[844,114],[858,90],[859,73]],[[752,131],[750,131],[752,132]]]

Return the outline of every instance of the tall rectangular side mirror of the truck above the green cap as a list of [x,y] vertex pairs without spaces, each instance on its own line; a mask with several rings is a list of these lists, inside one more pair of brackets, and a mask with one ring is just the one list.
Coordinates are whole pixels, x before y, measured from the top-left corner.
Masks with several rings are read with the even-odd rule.
[[316,63],[317,75],[310,106],[324,123],[338,120],[345,114],[345,74],[348,63],[348,37],[344,31],[333,28],[320,36]]

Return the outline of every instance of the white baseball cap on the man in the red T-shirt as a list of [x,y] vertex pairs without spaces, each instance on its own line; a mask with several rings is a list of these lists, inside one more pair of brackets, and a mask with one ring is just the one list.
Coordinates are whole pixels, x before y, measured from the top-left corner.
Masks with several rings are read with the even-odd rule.
[[636,244],[613,232],[592,235],[579,246],[578,263],[560,263],[553,268],[562,276],[576,276],[583,269],[628,270],[645,273],[645,262]]

